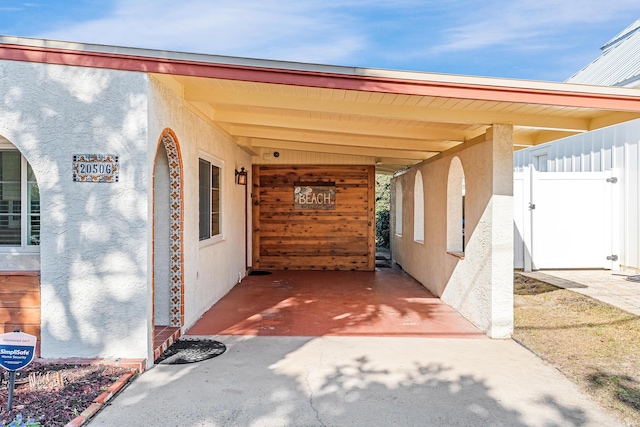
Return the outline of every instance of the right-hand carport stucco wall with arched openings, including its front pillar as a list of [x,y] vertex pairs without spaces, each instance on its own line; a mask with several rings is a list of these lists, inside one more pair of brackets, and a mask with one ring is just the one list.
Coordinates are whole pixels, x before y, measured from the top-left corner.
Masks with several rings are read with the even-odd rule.
[[[397,235],[392,208],[392,256],[487,335],[508,337],[513,329],[512,128],[495,125],[486,138],[453,151],[394,178],[402,188],[403,232]],[[447,253],[447,178],[454,156],[462,162],[466,186],[463,259]],[[418,170],[424,179],[424,243],[413,240]],[[398,186],[391,188],[396,200]]]

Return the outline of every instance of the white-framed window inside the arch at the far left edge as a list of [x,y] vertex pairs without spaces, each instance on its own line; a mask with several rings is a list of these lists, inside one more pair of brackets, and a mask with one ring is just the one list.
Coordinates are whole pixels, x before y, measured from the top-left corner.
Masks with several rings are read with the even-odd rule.
[[0,151],[0,246],[40,245],[40,192],[18,151]]

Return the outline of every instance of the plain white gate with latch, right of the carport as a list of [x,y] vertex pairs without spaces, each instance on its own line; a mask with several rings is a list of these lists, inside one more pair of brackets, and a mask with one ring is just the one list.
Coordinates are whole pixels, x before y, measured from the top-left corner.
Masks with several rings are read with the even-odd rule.
[[514,173],[514,266],[617,269],[612,174]]

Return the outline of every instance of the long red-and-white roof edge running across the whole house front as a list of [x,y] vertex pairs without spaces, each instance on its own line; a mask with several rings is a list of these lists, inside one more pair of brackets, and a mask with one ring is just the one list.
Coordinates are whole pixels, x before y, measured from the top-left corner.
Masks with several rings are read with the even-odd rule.
[[640,112],[628,88],[338,67],[0,36],[0,59],[405,95]]

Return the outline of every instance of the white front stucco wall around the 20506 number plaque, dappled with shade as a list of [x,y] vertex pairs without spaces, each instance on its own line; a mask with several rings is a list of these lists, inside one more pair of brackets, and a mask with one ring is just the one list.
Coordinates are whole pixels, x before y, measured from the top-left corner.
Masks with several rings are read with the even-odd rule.
[[[40,188],[43,357],[147,354],[147,77],[0,61],[0,135]],[[72,179],[74,154],[114,154],[118,183]]]

